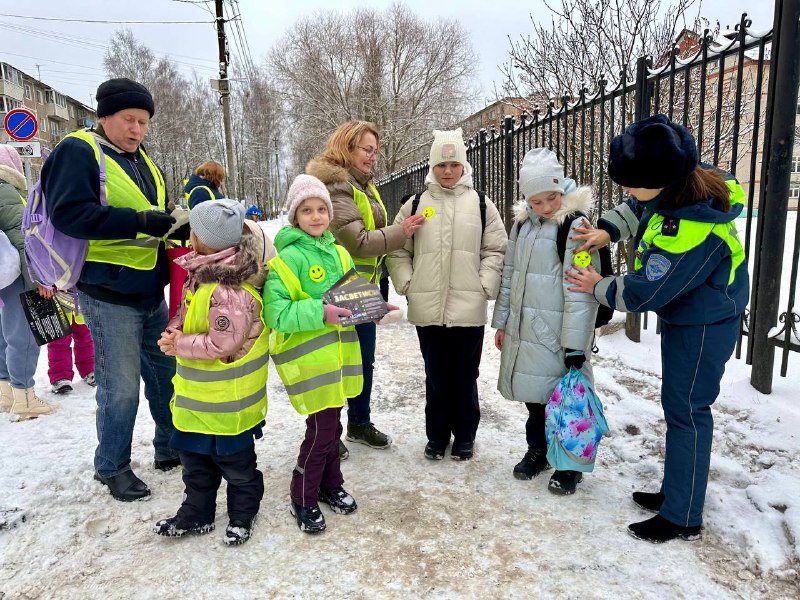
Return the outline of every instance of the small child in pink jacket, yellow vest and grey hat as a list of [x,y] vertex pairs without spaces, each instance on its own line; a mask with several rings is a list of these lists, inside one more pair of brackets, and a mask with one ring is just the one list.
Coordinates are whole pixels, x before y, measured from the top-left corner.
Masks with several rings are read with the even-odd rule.
[[235,200],[197,205],[189,220],[194,251],[176,259],[188,272],[183,303],[158,345],[177,357],[170,446],[186,496],[174,517],[155,524],[159,535],[212,531],[224,477],[230,521],[223,541],[243,544],[264,495],[254,439],[267,414],[269,330],[252,283],[263,281],[263,263],[252,232],[243,231],[244,212]]

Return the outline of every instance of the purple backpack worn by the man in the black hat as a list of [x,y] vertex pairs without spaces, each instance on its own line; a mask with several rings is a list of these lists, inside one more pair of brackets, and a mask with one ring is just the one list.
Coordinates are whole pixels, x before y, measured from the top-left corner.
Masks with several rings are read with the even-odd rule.
[[[106,200],[106,158],[97,144],[100,167],[100,204]],[[31,279],[45,287],[70,290],[78,278],[89,252],[88,240],[70,237],[58,231],[47,213],[47,201],[42,191],[42,180],[36,182],[28,194],[22,216],[22,233],[25,235],[25,262]]]

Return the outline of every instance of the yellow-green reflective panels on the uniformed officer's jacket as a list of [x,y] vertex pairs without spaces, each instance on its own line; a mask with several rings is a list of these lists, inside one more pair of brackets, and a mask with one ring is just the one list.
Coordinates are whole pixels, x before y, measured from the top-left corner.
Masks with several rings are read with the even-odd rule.
[[[742,187],[732,179],[726,180],[725,184],[731,192],[731,206],[744,204],[746,196]],[[664,216],[658,213],[650,217],[647,222],[647,229],[639,242],[639,250],[634,261],[634,267],[637,271],[642,268],[641,256],[653,244],[671,254],[682,254],[702,244],[709,235],[716,235],[730,248],[731,270],[728,275],[728,283],[733,283],[736,278],[736,268],[742,264],[745,258],[744,248],[739,241],[739,233],[733,221],[728,223],[703,223],[681,219],[676,235],[663,235],[661,231],[663,224]]]

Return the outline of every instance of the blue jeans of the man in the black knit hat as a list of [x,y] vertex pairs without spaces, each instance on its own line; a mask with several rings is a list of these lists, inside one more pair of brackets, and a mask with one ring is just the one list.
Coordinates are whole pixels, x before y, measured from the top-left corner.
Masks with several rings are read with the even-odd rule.
[[102,302],[78,294],[83,316],[94,341],[94,375],[97,381],[97,450],[94,468],[98,475],[111,477],[131,468],[131,443],[139,408],[139,380],[156,424],[155,458],[176,458],[169,447],[174,431],[172,377],[175,358],[158,348],[157,341],[167,325],[167,305],[141,309]]

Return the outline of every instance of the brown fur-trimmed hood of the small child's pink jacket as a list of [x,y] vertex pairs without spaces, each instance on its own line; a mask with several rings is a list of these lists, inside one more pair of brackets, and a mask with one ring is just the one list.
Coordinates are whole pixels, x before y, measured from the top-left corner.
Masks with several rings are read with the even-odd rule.
[[198,284],[219,283],[227,286],[242,285],[260,268],[256,238],[247,229],[242,233],[238,246],[207,255],[189,252],[177,258],[175,264],[186,269]]

